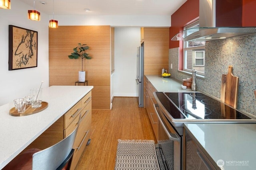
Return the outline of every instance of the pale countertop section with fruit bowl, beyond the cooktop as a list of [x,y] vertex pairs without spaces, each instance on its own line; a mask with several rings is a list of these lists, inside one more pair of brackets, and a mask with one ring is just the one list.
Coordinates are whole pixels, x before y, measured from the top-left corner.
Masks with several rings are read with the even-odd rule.
[[158,92],[192,92],[191,88],[182,89],[182,82],[175,78],[163,78],[158,75],[146,75]]

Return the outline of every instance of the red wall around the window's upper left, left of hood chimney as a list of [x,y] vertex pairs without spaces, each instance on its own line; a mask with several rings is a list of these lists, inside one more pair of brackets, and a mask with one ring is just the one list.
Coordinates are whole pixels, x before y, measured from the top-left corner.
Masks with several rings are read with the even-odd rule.
[[199,0],[187,0],[171,18],[169,31],[169,48],[179,47],[179,41],[171,41],[172,37],[183,30],[183,27],[192,20],[199,17]]

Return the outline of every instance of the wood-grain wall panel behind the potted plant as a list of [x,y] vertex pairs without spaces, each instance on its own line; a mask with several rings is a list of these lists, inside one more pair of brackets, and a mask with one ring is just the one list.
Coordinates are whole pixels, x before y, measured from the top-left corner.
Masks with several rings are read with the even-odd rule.
[[49,85],[74,85],[81,59],[68,58],[78,43],[87,44],[91,60],[83,60],[92,90],[92,108],[110,109],[110,26],[59,26],[49,29]]

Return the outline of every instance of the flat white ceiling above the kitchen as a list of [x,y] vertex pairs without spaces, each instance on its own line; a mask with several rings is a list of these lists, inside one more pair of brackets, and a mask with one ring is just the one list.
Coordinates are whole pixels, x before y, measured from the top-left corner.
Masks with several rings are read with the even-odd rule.
[[[34,8],[48,15],[53,15],[54,12],[56,16],[171,16],[187,0],[54,0],[54,3],[53,0],[20,1],[32,6],[31,10]],[[85,12],[85,8],[89,8],[90,12]]]

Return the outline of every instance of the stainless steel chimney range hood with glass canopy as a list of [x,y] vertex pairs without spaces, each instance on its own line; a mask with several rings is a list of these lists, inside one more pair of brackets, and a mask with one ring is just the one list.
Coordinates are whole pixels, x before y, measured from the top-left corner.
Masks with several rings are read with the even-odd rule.
[[215,41],[256,33],[242,27],[242,0],[200,0],[199,27],[176,34],[172,41]]

